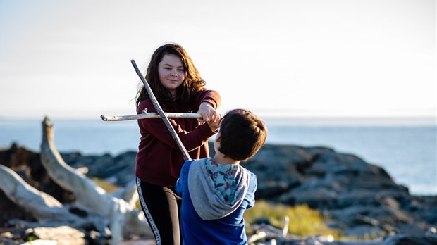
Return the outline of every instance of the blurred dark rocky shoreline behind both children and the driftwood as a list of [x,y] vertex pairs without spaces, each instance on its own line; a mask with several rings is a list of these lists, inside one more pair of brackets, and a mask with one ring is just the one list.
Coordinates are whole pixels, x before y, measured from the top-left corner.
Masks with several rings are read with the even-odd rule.
[[[118,156],[61,153],[71,167],[121,187],[133,179],[135,155],[133,151]],[[59,201],[74,200],[49,179],[39,162],[39,153],[13,145],[1,151],[0,163]],[[243,165],[257,175],[257,199],[289,206],[306,203],[330,218],[329,227],[347,236],[401,235],[413,237],[417,244],[437,244],[435,232],[431,238],[425,237],[426,232],[437,227],[437,196],[411,195],[383,168],[357,156],[326,147],[266,145]],[[32,220],[1,191],[0,198],[5,200],[0,203],[1,228],[8,227],[12,219]]]

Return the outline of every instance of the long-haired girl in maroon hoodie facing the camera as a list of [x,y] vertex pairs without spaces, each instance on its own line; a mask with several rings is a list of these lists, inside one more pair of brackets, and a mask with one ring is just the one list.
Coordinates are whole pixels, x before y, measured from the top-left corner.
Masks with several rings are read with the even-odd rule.
[[[161,108],[168,113],[197,113],[202,120],[169,118],[191,158],[209,156],[208,139],[216,134],[221,115],[218,92],[204,88],[205,82],[190,56],[178,44],[160,46],[152,55],[145,76]],[[144,85],[136,98],[137,113],[156,112]],[[207,123],[204,123],[207,122]],[[156,244],[180,244],[180,196],[174,187],[184,163],[161,118],[138,120],[141,139],[135,176],[142,211],[154,232]]]

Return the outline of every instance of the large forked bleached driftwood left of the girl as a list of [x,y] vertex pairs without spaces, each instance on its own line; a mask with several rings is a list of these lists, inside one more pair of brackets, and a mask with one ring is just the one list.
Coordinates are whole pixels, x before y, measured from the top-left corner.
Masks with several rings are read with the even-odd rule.
[[135,208],[135,184],[128,184],[113,195],[106,193],[82,172],[71,168],[63,161],[54,145],[54,127],[49,118],[44,118],[42,129],[42,165],[52,180],[63,189],[73,192],[76,198],[73,205],[90,215],[83,218],[70,213],[70,206],[62,205],[52,196],[31,187],[13,170],[2,165],[0,188],[11,201],[34,215],[39,224],[80,227],[91,222],[102,234],[109,228],[111,244],[119,244],[127,234],[153,237],[144,214]]

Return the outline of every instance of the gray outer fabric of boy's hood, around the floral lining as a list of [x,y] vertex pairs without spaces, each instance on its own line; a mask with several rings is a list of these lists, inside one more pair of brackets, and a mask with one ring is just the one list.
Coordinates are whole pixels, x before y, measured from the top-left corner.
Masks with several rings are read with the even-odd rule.
[[[206,158],[204,158],[206,159]],[[203,159],[203,160],[204,160]],[[205,160],[204,160],[205,161]],[[249,171],[238,166],[233,203],[226,203],[221,192],[214,187],[204,161],[195,161],[188,172],[188,189],[196,213],[203,220],[217,220],[235,211],[245,199],[249,187]]]

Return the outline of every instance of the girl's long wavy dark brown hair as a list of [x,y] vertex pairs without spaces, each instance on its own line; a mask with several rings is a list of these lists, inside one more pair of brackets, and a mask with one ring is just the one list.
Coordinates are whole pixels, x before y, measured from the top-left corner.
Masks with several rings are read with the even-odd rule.
[[[176,89],[176,98],[171,96],[171,93],[159,80],[158,65],[166,54],[178,56],[182,61],[185,70],[185,80],[180,84],[178,89]],[[191,108],[190,106],[190,101],[192,101],[193,96],[195,96],[195,92],[198,92],[206,84],[206,82],[202,80],[202,77],[200,77],[199,71],[197,71],[197,68],[185,49],[183,49],[179,44],[173,43],[160,46],[156,51],[154,51],[149,66],[147,67],[145,79],[152,89],[154,96],[159,101],[159,104],[164,106],[180,105],[183,106],[183,108],[186,108],[189,112],[195,110],[195,108]],[[147,98],[149,98],[149,94],[147,94],[144,84],[141,84],[136,96],[137,109],[140,102]]]

